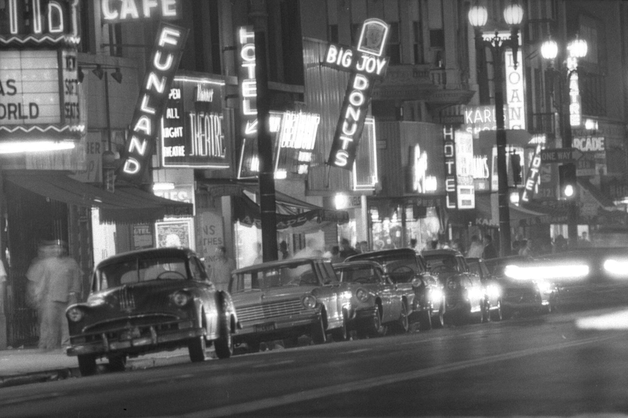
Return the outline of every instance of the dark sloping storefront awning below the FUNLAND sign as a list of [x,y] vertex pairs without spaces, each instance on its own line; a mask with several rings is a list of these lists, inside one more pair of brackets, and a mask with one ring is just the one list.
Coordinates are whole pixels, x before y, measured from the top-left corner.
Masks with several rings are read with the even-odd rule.
[[114,193],[69,178],[58,171],[4,171],[4,178],[40,196],[77,206],[97,206],[100,223],[153,222],[166,216],[192,216],[193,206],[154,196],[137,188],[117,188]]

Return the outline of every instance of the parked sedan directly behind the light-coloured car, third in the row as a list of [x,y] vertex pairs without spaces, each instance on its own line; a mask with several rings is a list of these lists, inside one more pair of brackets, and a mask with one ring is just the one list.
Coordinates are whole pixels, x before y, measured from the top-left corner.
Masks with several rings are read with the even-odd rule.
[[404,300],[413,290],[399,288],[384,274],[381,264],[371,261],[350,261],[333,265],[342,282],[357,283],[367,291],[367,297],[355,298],[355,319],[351,326],[360,338],[380,336],[388,327],[404,331]]

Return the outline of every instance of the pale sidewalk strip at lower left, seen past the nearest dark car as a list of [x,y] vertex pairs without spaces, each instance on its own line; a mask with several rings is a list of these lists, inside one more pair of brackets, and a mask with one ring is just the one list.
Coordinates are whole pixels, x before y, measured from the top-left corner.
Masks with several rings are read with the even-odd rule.
[[[211,358],[214,353],[208,352]],[[187,348],[160,351],[129,358],[127,370],[149,368],[190,361]],[[107,360],[99,361],[99,372],[106,370]],[[0,351],[0,388],[35,382],[50,382],[69,377],[80,377],[76,356],[67,356],[62,350],[41,351],[21,348]]]

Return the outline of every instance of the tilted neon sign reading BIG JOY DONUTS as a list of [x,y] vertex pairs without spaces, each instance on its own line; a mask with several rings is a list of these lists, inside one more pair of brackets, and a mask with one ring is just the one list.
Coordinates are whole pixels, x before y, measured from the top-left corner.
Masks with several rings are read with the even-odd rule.
[[373,83],[384,78],[389,59],[382,57],[388,39],[388,25],[380,19],[367,19],[362,24],[357,48],[330,43],[325,51],[324,65],[351,72],[349,86],[340,108],[340,119],[333,136],[332,151],[327,164],[353,169],[355,152],[364,129],[371,101]]

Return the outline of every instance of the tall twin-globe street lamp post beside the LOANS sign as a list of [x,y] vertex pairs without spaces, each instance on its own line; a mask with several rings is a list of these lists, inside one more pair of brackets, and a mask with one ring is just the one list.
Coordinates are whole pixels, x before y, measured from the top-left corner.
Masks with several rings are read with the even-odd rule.
[[519,49],[519,24],[523,19],[523,9],[514,3],[504,9],[504,20],[511,27],[508,38],[500,36],[495,30],[495,35],[482,35],[482,26],[486,24],[488,12],[484,6],[475,5],[468,13],[468,19],[475,28],[475,48],[484,52],[489,48],[492,53],[494,67],[494,91],[495,91],[495,132],[497,142],[497,200],[499,204],[499,249],[503,256],[511,252],[510,208],[508,196],[508,171],[506,167],[506,127],[504,126],[504,90],[503,75],[504,62],[502,55],[507,48],[512,49],[513,64],[517,66],[517,50]]

